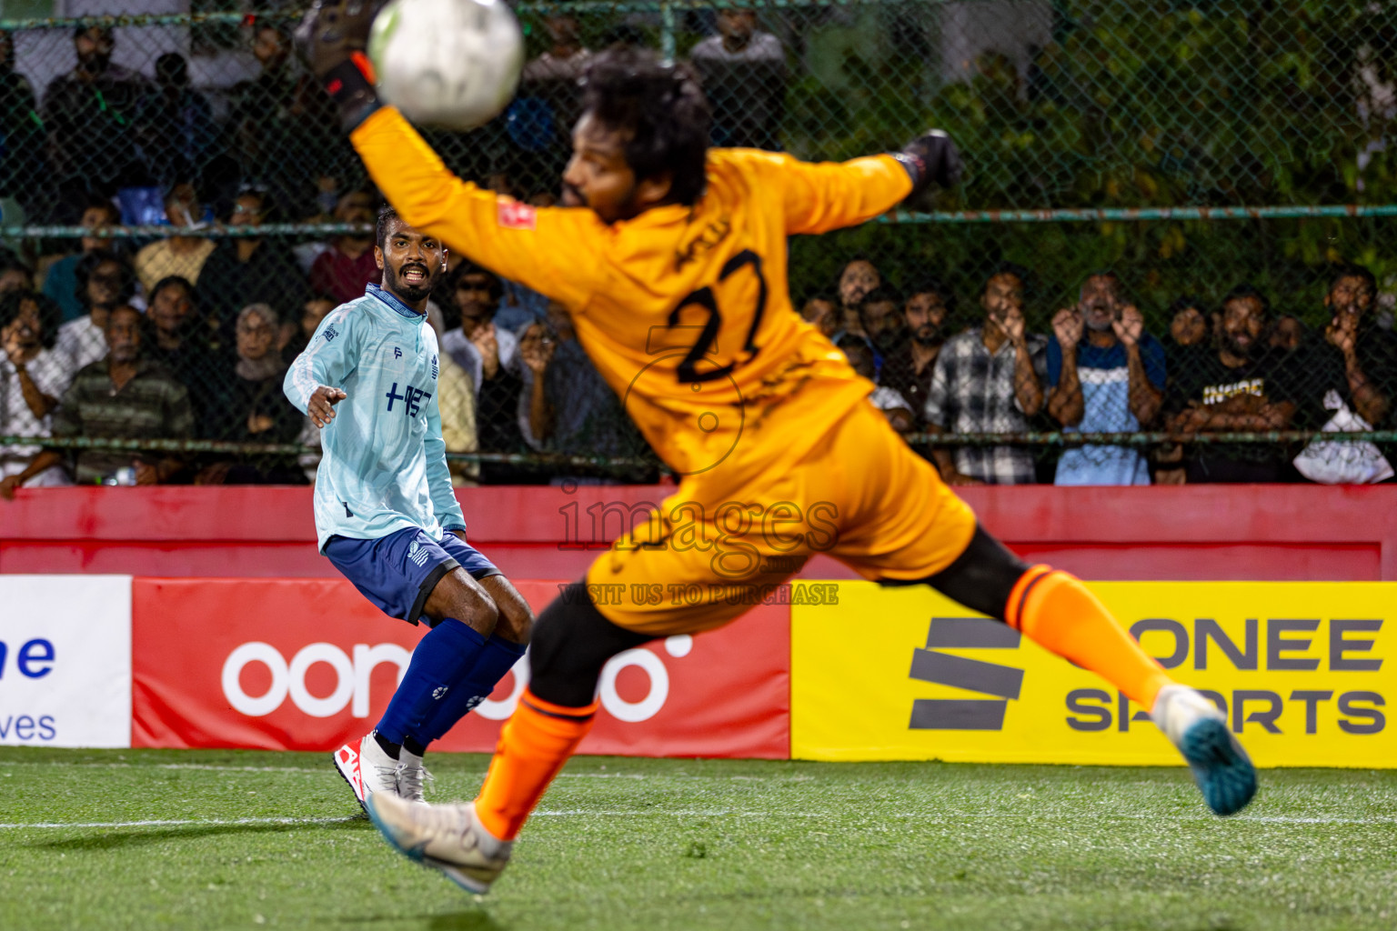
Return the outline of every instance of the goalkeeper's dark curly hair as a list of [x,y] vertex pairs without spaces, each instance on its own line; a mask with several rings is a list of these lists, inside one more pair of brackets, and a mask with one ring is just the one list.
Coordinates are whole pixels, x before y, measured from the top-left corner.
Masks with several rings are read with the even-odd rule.
[[703,195],[712,114],[687,66],[644,49],[602,52],[583,78],[583,112],[630,135],[626,163],[638,180],[668,172],[675,201],[692,207]]

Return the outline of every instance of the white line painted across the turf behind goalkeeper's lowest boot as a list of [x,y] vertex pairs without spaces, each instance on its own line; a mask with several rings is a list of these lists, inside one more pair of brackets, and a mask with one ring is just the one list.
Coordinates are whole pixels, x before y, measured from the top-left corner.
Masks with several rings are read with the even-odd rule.
[[[541,808],[534,812],[535,818],[834,818],[837,814],[817,811],[732,811],[724,808],[711,810],[671,810],[671,811],[587,811],[581,808]],[[993,821],[993,819],[1024,819],[1024,821],[1062,821],[1078,819],[1078,815],[1053,814],[995,814],[995,812],[902,812],[887,815],[888,818],[905,818],[916,821]],[[1092,814],[1094,821],[1208,821],[1218,822],[1211,815],[1132,815],[1132,814]],[[0,831],[61,831],[61,829],[89,829],[89,828],[183,828],[183,826],[236,826],[236,825],[337,825],[349,821],[362,821],[362,815],[345,818],[184,818],[184,819],[148,819],[148,821],[39,821],[32,824],[0,824]],[[1227,824],[1267,824],[1267,825],[1375,825],[1397,824],[1397,818],[1334,818],[1327,815],[1291,817],[1291,815],[1235,815]]]

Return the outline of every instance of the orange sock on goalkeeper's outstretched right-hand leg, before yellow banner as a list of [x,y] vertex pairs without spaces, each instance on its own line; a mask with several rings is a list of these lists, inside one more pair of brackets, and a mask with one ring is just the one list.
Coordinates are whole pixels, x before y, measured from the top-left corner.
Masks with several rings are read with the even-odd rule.
[[1173,680],[1140,649],[1106,606],[1076,576],[1035,565],[1014,583],[1004,609],[1009,625],[1030,639],[1090,669],[1146,710]]

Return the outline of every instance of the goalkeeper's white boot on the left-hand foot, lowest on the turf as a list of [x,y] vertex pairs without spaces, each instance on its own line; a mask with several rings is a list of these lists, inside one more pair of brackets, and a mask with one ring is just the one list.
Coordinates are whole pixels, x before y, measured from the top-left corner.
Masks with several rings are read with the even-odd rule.
[[485,895],[509,865],[514,844],[481,825],[475,803],[425,805],[383,793],[369,797],[367,810],[400,853],[440,870],[467,892]]

